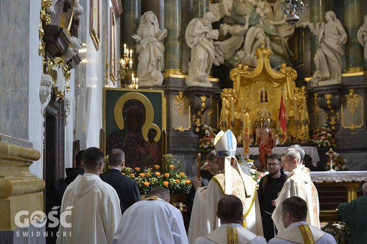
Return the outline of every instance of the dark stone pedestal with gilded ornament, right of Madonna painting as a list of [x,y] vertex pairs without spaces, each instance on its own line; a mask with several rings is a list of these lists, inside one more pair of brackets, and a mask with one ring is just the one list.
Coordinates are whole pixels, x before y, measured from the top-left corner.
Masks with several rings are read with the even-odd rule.
[[216,81],[212,82],[213,87],[187,87],[184,79],[184,75],[165,75],[160,89],[164,90],[166,101],[167,153],[183,161],[181,170],[192,179],[197,175],[196,157],[200,152],[196,149],[199,145],[197,131],[203,126],[203,114],[212,109],[212,101],[220,100],[221,90]]

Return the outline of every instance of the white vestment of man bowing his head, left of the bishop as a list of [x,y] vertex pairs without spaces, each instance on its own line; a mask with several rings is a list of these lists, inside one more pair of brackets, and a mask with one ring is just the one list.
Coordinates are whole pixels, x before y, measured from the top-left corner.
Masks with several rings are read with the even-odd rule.
[[131,205],[122,215],[113,244],[187,244],[179,209],[153,196]]

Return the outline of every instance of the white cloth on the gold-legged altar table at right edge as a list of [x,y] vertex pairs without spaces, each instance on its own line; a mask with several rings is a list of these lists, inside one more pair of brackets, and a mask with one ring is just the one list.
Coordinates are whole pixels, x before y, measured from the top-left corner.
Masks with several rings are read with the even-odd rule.
[[312,182],[367,182],[367,171],[310,172]]

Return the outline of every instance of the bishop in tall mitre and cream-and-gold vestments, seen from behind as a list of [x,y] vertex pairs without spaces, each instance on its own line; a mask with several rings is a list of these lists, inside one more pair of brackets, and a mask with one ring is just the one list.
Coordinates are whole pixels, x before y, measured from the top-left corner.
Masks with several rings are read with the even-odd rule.
[[260,207],[256,197],[256,183],[251,176],[243,173],[234,157],[236,137],[230,130],[220,131],[214,140],[218,161],[222,171],[213,176],[207,187],[196,190],[190,224],[188,241],[193,244],[198,237],[205,236],[220,226],[216,216],[217,203],[226,195],[235,195],[243,204],[243,226],[256,235],[263,235]]

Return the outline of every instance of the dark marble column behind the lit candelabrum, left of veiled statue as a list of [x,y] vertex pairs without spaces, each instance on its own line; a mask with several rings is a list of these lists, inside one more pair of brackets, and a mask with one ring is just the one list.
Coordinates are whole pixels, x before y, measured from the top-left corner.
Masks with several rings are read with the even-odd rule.
[[[123,1],[123,27],[122,27],[122,34],[123,38],[122,48],[121,51],[123,52],[123,44],[126,43],[129,49],[133,49],[133,70],[137,70],[138,66],[138,55],[137,50],[135,49],[136,41],[131,37],[133,34],[137,33],[138,26],[140,23],[141,17],[141,0],[130,0],[130,1]],[[123,53],[121,53],[121,56]]]

